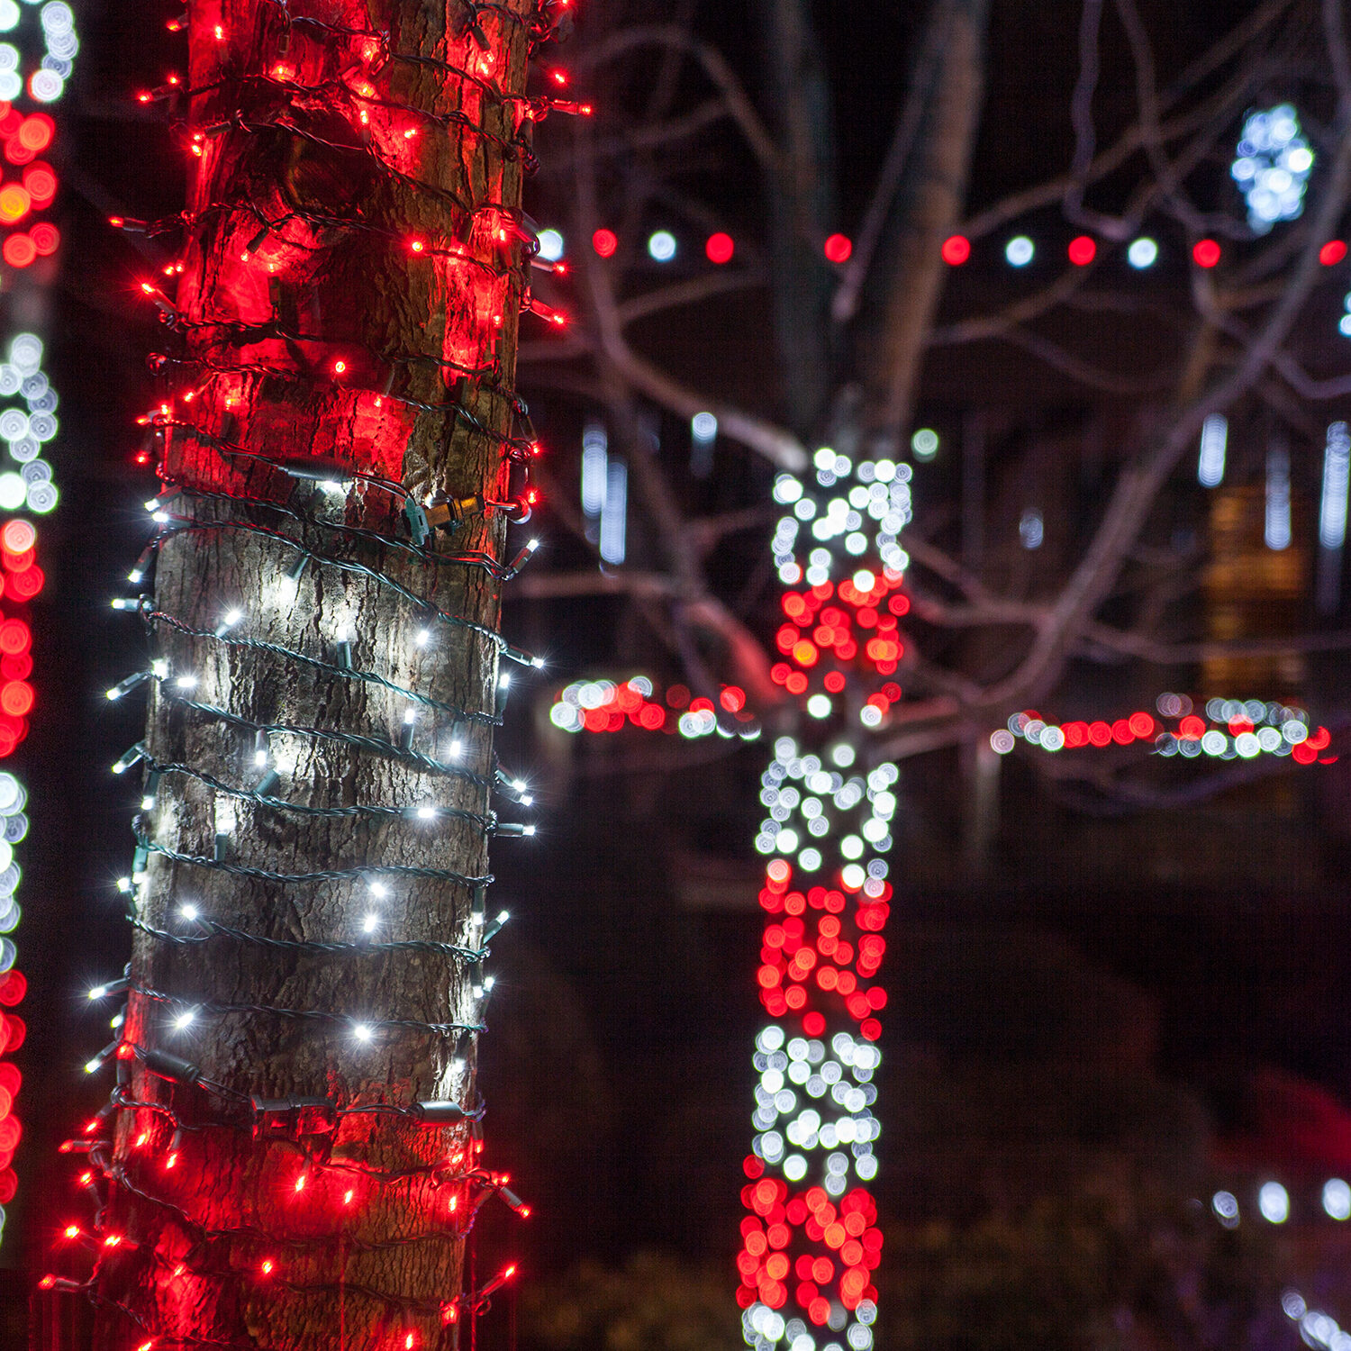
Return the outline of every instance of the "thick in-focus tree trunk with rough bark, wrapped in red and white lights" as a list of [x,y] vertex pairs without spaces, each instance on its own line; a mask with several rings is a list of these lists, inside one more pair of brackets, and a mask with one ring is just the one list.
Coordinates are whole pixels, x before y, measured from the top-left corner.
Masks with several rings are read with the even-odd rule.
[[[416,1104],[476,1108],[504,569],[462,555],[501,559],[507,516],[463,503],[511,496],[534,5],[305,12],[192,7],[200,161],[153,297],[181,492],[93,1151],[118,1351],[450,1344],[493,1193],[470,1119]],[[463,523],[413,547],[399,485]]]

